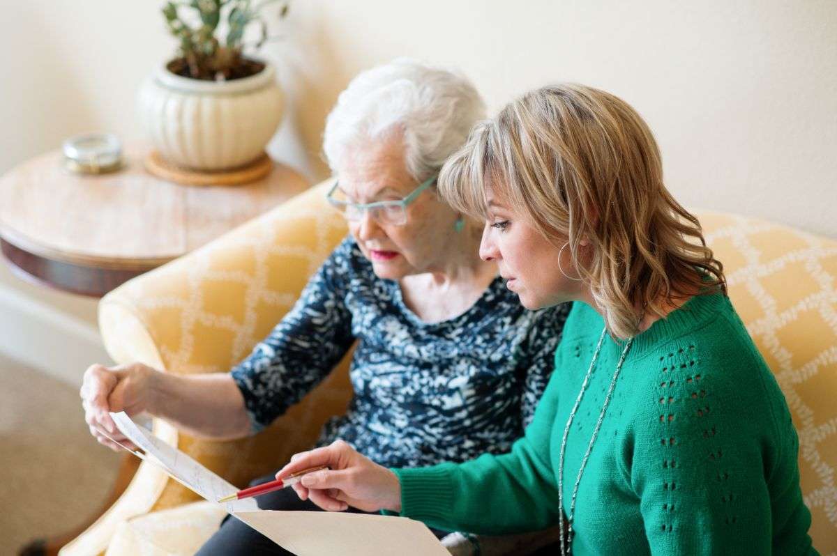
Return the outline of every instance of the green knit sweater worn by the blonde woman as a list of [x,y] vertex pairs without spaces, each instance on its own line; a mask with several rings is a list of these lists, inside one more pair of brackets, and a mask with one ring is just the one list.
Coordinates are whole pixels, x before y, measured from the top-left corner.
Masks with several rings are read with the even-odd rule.
[[[557,523],[561,439],[603,325],[575,304],[510,453],[393,470],[402,515],[485,534]],[[623,346],[604,339],[569,432],[565,513]],[[782,392],[728,298],[691,298],[629,349],[578,488],[573,554],[816,553],[797,452]]]

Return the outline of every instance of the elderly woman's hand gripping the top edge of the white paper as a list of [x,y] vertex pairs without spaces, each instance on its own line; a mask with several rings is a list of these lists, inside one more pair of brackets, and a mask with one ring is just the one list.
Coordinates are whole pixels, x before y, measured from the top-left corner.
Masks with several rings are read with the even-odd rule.
[[[90,365],[82,381],[81,406],[85,410],[85,421],[90,434],[101,444],[119,451],[122,445],[135,449],[136,446],[116,428],[109,411],[126,411],[136,415],[148,409],[151,380],[157,371],[141,363],[131,365]],[[106,435],[106,436],[105,436]],[[108,438],[110,436],[110,438]]]

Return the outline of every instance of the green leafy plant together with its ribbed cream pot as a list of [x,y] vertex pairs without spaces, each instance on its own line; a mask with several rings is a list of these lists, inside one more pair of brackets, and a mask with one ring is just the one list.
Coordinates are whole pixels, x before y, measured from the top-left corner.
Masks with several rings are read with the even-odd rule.
[[[270,62],[244,54],[268,40],[264,8],[280,0],[188,0],[162,8],[179,43],[174,59],[142,85],[138,110],[154,148],[197,171],[245,166],[279,126],[283,95]],[[280,3],[285,18],[287,3]],[[260,33],[245,43],[250,28]]]

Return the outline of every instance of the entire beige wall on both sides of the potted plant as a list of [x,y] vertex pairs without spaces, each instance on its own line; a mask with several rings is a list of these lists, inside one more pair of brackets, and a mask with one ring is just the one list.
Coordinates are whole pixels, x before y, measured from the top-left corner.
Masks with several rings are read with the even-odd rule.
[[[134,94],[174,43],[162,2],[5,3],[0,171],[64,137],[141,135]],[[660,141],[671,191],[691,207],[837,237],[837,2],[297,0],[279,64],[293,108],[272,154],[326,176],[323,119],[357,71],[398,55],[464,70],[496,110],[557,80],[619,94]],[[0,200],[2,201],[2,200]],[[0,287],[42,295],[6,272]],[[93,320],[93,302],[49,295]]]

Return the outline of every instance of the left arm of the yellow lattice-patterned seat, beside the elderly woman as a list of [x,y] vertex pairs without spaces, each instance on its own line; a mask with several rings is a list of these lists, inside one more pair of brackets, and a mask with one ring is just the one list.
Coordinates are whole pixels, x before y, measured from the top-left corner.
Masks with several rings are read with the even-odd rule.
[[[308,278],[345,237],[328,207],[329,182],[312,187],[194,252],[108,293],[99,325],[117,364],[140,361],[188,375],[225,372],[243,360],[293,306]],[[324,421],[351,397],[348,357],[267,430],[238,441],[206,441],[160,419],[157,436],[236,486],[272,472],[311,446]],[[197,495],[143,462],[126,492],[62,553],[104,550],[126,518],[172,508]]]

